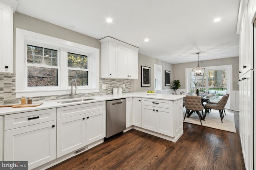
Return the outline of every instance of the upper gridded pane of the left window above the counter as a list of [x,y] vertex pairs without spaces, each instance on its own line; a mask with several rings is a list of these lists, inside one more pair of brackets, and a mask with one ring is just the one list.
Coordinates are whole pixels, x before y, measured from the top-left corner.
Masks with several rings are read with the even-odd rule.
[[27,62],[57,66],[57,50],[27,45]]

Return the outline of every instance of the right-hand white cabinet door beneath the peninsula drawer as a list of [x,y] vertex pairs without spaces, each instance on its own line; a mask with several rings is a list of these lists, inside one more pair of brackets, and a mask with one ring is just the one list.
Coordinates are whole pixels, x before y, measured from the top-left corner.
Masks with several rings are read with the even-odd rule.
[[173,137],[172,109],[156,107],[156,132]]

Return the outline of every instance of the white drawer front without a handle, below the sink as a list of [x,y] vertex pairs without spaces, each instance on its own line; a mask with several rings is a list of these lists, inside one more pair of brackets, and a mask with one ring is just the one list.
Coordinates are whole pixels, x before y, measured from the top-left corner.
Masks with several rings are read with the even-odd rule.
[[106,109],[106,102],[94,102],[88,104],[79,104],[74,106],[58,107],[57,108],[57,119],[65,117],[81,115],[84,113],[90,113],[93,111],[99,111]]

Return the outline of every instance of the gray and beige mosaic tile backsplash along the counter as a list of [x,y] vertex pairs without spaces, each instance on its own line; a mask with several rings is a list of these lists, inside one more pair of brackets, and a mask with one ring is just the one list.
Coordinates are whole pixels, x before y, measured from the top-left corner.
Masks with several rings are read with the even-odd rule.
[[[102,84],[106,84],[106,89],[102,89]],[[125,88],[123,88],[123,84],[125,84]],[[100,92],[77,94],[74,98],[113,94],[114,87],[121,87],[123,88],[122,93],[129,93],[131,92],[131,80],[100,78]],[[38,102],[67,98],[70,98],[70,95],[40,96],[33,97],[32,100]],[[15,74],[0,74],[0,105],[4,104],[20,104],[20,98],[15,97]]]

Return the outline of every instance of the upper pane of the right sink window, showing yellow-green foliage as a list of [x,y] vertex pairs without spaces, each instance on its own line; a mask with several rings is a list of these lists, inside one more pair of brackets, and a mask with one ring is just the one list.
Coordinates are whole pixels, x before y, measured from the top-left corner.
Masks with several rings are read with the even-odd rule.
[[87,56],[68,53],[68,67],[87,69]]

